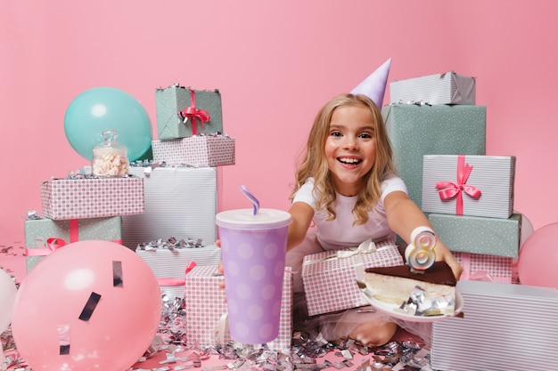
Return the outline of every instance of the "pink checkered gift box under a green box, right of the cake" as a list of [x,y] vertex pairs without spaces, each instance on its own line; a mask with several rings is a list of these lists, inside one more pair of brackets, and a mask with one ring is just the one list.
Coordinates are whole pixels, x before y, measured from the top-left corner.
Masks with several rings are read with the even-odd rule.
[[511,257],[456,252],[452,254],[463,267],[461,279],[505,284],[513,282],[513,258]]

